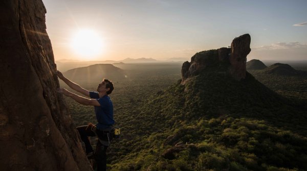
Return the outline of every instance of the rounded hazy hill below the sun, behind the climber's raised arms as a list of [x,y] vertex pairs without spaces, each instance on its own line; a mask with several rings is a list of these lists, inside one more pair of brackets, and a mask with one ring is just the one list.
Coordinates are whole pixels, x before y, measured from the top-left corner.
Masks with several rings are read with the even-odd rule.
[[97,82],[102,81],[103,78],[113,81],[125,78],[124,70],[112,64],[95,64],[74,68],[64,72],[63,75],[72,80]]

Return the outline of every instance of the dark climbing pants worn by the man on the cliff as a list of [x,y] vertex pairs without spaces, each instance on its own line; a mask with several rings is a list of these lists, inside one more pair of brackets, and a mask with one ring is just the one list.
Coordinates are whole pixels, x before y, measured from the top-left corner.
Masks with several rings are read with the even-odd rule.
[[[91,130],[87,129],[87,125],[77,127],[79,134],[81,136],[81,140],[85,144],[86,153],[93,152],[93,147],[91,145],[89,137],[94,137],[96,134]],[[100,131],[97,133],[99,134]],[[97,140],[96,152],[95,152],[95,160],[97,163],[97,171],[106,170],[106,149],[107,146],[102,145],[99,140]]]

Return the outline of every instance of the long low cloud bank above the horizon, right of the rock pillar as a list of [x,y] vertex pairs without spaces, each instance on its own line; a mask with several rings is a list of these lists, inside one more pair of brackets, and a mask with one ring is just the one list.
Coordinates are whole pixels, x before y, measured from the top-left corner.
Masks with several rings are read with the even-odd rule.
[[262,51],[262,50],[290,50],[293,48],[307,48],[307,44],[301,44],[299,42],[278,42],[271,45],[264,45],[260,47],[254,47],[253,50]]

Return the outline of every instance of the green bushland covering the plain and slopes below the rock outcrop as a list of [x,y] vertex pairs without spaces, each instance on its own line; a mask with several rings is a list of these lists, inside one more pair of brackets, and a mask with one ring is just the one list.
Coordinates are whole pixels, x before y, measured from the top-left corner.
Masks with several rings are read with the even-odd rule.
[[[307,103],[296,86],[286,95],[272,88],[279,77],[252,72],[271,90],[249,73],[237,82],[214,68],[181,85],[178,64],[121,65],[129,77],[111,94],[122,132],[108,151],[111,170],[307,169]],[[284,87],[307,85],[296,79]],[[92,107],[67,102],[76,125],[95,123]]]

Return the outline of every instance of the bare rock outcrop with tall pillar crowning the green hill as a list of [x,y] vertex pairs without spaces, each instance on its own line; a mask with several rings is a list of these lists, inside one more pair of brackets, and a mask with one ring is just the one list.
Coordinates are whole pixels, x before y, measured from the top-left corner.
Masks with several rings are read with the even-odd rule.
[[235,38],[231,48],[222,47],[196,53],[191,62],[184,62],[181,69],[182,84],[190,77],[198,75],[208,67],[227,67],[227,72],[236,80],[246,76],[246,57],[251,52],[251,37],[245,34]]

